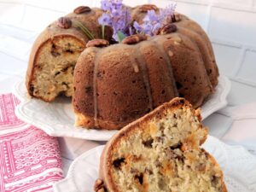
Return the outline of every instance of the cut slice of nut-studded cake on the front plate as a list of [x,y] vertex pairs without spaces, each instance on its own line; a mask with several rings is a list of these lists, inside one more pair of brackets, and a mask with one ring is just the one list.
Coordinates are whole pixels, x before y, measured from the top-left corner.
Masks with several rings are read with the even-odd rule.
[[217,162],[200,147],[201,115],[181,98],[125,126],[102,153],[97,192],[225,192]]

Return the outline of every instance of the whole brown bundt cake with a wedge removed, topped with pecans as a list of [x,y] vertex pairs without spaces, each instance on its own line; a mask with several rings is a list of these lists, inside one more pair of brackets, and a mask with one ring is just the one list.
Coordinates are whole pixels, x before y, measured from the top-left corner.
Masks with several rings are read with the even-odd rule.
[[[125,9],[138,23],[150,10],[160,15],[152,4]],[[195,21],[175,13],[155,36],[137,33],[113,44],[113,29],[102,32],[98,23],[105,12],[81,6],[39,35],[26,73],[30,96],[73,96],[76,125],[113,130],[175,96],[198,108],[212,94],[218,67]]]

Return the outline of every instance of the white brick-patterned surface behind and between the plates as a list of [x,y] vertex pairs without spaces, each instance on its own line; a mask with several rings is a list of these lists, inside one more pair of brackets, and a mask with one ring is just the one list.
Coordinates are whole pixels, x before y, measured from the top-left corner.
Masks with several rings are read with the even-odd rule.
[[[124,1],[130,5],[170,1]],[[177,11],[189,15],[212,41],[220,73],[232,88],[228,106],[204,120],[210,134],[225,143],[240,144],[256,154],[256,0],[178,0]],[[0,0],[0,93],[8,93],[24,79],[35,38],[45,26],[79,5],[99,1]],[[255,108],[254,108],[255,107]],[[90,148],[102,143],[59,137],[64,171]]]

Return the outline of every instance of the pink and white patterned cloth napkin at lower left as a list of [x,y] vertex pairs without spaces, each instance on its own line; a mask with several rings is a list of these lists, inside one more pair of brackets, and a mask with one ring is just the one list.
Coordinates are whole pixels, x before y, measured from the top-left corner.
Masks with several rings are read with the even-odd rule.
[[0,191],[52,191],[63,177],[55,137],[15,116],[13,94],[0,95]]

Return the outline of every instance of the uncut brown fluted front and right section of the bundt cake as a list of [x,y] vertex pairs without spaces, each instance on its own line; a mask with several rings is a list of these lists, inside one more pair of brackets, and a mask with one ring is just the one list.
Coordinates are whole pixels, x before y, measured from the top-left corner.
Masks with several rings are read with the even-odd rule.
[[[137,6],[140,22],[153,5]],[[181,96],[198,108],[218,84],[212,45],[201,26],[175,14],[158,35],[135,34],[121,44],[93,40],[74,71],[76,125],[120,129]],[[95,44],[95,47],[93,46]]]

